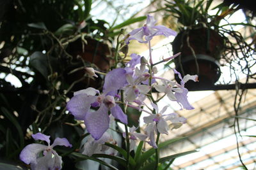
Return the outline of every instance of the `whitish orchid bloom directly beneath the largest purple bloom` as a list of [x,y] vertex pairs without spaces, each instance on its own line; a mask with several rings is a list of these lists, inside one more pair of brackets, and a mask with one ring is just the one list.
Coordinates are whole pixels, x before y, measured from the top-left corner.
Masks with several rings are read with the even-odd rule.
[[104,132],[102,137],[98,140],[95,140],[92,138],[92,136],[89,136],[86,143],[84,143],[83,148],[83,154],[88,155],[89,157],[92,156],[95,153],[107,153],[108,155],[115,155],[116,150],[113,148],[104,145],[105,143],[111,143],[113,145],[116,145],[116,141],[108,134],[108,132]]

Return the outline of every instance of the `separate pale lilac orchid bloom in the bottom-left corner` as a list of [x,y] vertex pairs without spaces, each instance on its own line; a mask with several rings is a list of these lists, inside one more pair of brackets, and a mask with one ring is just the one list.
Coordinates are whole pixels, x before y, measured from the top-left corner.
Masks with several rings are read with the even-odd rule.
[[32,134],[32,137],[35,140],[46,141],[48,145],[33,143],[26,146],[20,153],[20,160],[30,164],[32,170],[61,169],[61,157],[53,148],[57,145],[72,147],[68,140],[66,138],[56,138],[50,145],[50,136],[38,132]]

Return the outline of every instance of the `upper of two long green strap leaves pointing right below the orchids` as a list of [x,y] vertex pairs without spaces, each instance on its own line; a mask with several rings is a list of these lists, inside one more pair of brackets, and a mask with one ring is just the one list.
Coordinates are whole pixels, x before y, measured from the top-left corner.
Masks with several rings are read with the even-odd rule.
[[[184,139],[186,137],[183,137],[183,138],[175,138],[175,139],[170,139],[168,141],[164,141],[163,143],[160,143],[158,145],[158,148],[161,149],[161,148],[164,148],[165,146],[168,146],[170,145],[171,143],[175,143],[177,141],[180,141],[182,139]],[[150,150],[147,150],[147,152],[143,153],[140,157],[140,162],[137,162],[138,166],[140,167],[141,164],[143,164],[143,162],[146,162],[146,160],[148,158],[150,158],[154,153],[155,153],[155,148],[151,148]]]

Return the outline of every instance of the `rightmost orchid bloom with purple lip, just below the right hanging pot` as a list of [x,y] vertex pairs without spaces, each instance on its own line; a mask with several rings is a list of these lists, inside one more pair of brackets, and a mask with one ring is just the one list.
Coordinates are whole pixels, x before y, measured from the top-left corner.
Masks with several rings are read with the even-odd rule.
[[184,78],[182,78],[181,74],[176,71],[175,69],[173,69],[175,74],[178,74],[179,78],[180,78],[180,89],[182,90],[180,91],[176,91],[174,96],[177,99],[177,103],[180,104],[181,108],[184,108],[186,110],[193,110],[195,109],[188,101],[188,89],[186,89],[184,87],[185,83],[188,80],[193,80],[193,81],[198,81],[198,76],[197,75],[189,75],[187,74],[186,76],[184,76]]

